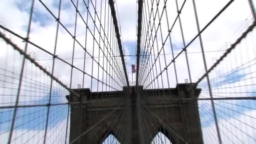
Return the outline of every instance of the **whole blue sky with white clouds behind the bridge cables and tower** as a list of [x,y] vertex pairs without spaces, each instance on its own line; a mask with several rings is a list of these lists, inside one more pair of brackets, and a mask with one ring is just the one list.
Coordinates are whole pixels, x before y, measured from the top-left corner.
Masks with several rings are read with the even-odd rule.
[[[43,3],[53,12],[55,16],[58,15],[58,6],[59,0],[42,0]],[[103,0],[104,1],[104,0]],[[118,10],[118,23],[120,25],[120,33],[121,39],[124,49],[124,55],[136,55],[136,0],[115,0],[116,1],[116,11]],[[74,0],[74,3],[76,1]],[[85,0],[85,2],[88,2]],[[144,2],[144,5],[147,5],[147,2]],[[179,0],[179,8],[183,1]],[[228,0],[218,0],[218,1],[211,1],[211,0],[196,0],[197,5],[197,13],[199,18],[199,25],[202,29],[211,19],[212,17],[228,2]],[[93,1],[94,3],[94,1]],[[150,1],[149,1],[150,3]],[[256,1],[254,0],[254,3]],[[163,7],[163,1],[160,1],[159,7]],[[0,5],[0,24],[4,27],[13,30],[17,34],[21,35],[22,37],[26,37],[27,33],[27,26],[29,21],[29,11],[30,11],[31,0],[4,0],[1,2]],[[87,16],[86,8],[83,6],[83,1],[79,1],[79,11],[84,16]],[[96,8],[97,13],[100,13],[99,3],[97,1],[98,7]],[[156,6],[156,3],[154,3]],[[177,11],[176,11],[176,4],[174,0],[168,0],[166,3],[167,5],[167,17],[169,21],[169,26],[171,27],[172,22],[174,21]],[[149,8],[150,9],[150,8]],[[162,9],[160,9],[162,10]],[[89,7],[89,11],[93,11],[92,7]],[[155,11],[155,9],[154,9]],[[144,10],[144,13],[149,14],[148,10]],[[184,43],[188,44],[190,40],[197,34],[195,17],[192,7],[192,1],[188,0],[184,5],[183,11],[180,15],[181,23],[184,32]],[[61,23],[67,27],[67,30],[71,33],[74,32],[75,28],[75,8],[72,5],[71,1],[69,0],[62,0],[61,3],[61,16],[60,16]],[[155,20],[156,24],[158,24],[158,17]],[[168,24],[166,23],[166,14],[163,14],[161,22],[162,34],[165,38],[168,35]],[[219,16],[216,21],[211,24],[203,33],[203,45],[205,51],[220,51],[227,49],[236,39],[239,37],[242,32],[252,23],[252,16],[250,8],[248,7],[247,0],[235,0],[227,10],[224,11],[221,16]],[[99,21],[96,21],[96,24],[99,25]],[[55,37],[56,37],[56,21],[53,19],[48,11],[42,6],[42,4],[35,0],[34,6],[34,13],[32,17],[32,24],[31,24],[31,32],[29,35],[29,40],[33,43],[39,45],[40,47],[44,48],[45,50],[53,53],[54,52],[54,44],[55,44]],[[93,29],[93,21],[90,19],[88,20],[88,27],[89,29]],[[3,29],[0,29],[1,32],[4,32]],[[9,37],[14,43],[19,45],[21,49],[24,49],[24,42],[19,38],[11,35],[8,32],[5,32],[7,37]],[[93,46],[93,38],[89,36],[87,39],[87,51],[88,53],[93,53],[93,49],[96,50],[96,44]],[[95,34],[96,37],[99,34]],[[113,36],[113,35],[112,35]],[[85,43],[85,25],[83,23],[83,19],[77,19],[77,31],[76,31],[76,38],[79,43]],[[173,45],[173,53],[179,53],[181,49],[184,47],[180,27],[178,24],[175,24],[173,30],[171,32],[172,38],[172,45]],[[214,96],[231,96],[230,93],[233,93],[232,96],[255,96],[255,41],[253,43],[253,38],[255,38],[255,30],[251,33],[243,43],[240,43],[238,48],[236,48],[229,56],[227,56],[227,60],[221,62],[218,67],[215,68],[213,72],[210,73],[210,80],[213,89]],[[158,44],[154,43],[154,45],[162,47],[161,35],[160,32],[157,32],[157,39]],[[170,41],[167,41],[164,47],[165,54],[171,53],[171,46]],[[102,44],[101,44],[102,45]],[[0,40],[0,47],[3,48],[2,53],[0,53],[0,68],[1,68],[1,87],[8,87],[8,88],[1,88],[0,89],[0,101],[2,101],[1,106],[9,106],[14,104],[15,96],[17,92],[17,83],[19,82],[19,73],[21,69],[21,61],[22,56],[19,55],[17,51],[14,51],[11,46],[6,45],[2,40]],[[94,48],[93,48],[94,47]],[[73,39],[67,33],[67,31],[63,27],[59,27],[59,35],[56,43],[56,55],[60,58],[72,58],[72,48],[73,48]],[[146,51],[144,49],[145,45],[141,45],[142,51]],[[245,50],[246,48],[246,50]],[[189,59],[189,66],[191,71],[192,82],[196,82],[199,77],[204,74],[204,67],[203,67],[203,59],[201,53],[193,53],[199,52],[200,50],[200,43],[199,40],[196,39],[188,48],[188,59]],[[157,48],[155,47],[152,52],[158,53]],[[50,60],[43,60],[37,61],[43,67],[45,67],[49,72],[52,70],[52,56],[44,51],[35,48],[32,45],[28,45],[28,53],[32,56],[32,58],[37,60],[42,59],[50,59]],[[163,54],[163,51],[160,52]],[[213,62],[219,58],[223,54],[223,51],[220,52],[209,52],[205,53],[206,63],[208,68],[211,67]],[[174,54],[176,56],[177,54]],[[94,53],[94,56],[103,56],[103,53]],[[84,57],[84,50],[81,49],[77,43],[75,45],[75,58],[83,58]],[[8,59],[8,61],[7,61]],[[172,61],[171,55],[166,55],[166,62],[169,64]],[[65,59],[65,61],[71,64],[71,59]],[[131,64],[136,64],[136,57],[135,56],[125,56],[126,67],[128,70],[128,77],[129,81],[132,80],[132,73],[131,73]],[[99,60],[99,63],[104,63],[103,61]],[[105,63],[104,63],[105,64]],[[159,67],[161,64],[161,69]],[[75,59],[74,65],[79,69],[83,69],[83,59]],[[85,65],[87,66],[85,72],[88,72],[90,75],[97,77],[99,74],[100,80],[105,80],[104,76],[102,75],[102,70],[96,71],[97,67],[94,65],[92,66],[92,61],[86,61]],[[155,72],[155,76],[159,74],[164,68],[164,56],[160,56],[160,58],[156,61],[157,68],[153,69],[152,71]],[[182,53],[176,59],[176,68],[177,68],[177,75],[178,75],[178,83],[184,83],[185,79],[188,79],[188,72],[187,72],[187,65],[185,54]],[[7,71],[8,70],[8,71]],[[94,70],[94,71],[92,71]],[[61,61],[56,61],[54,67],[54,75],[58,77],[64,84],[68,87],[70,85],[70,76],[71,76],[71,68]],[[160,87],[168,88],[168,83],[170,87],[176,87],[176,80],[173,70],[173,64],[168,67],[168,77],[163,75],[164,83],[160,85]],[[19,99],[20,104],[47,104],[49,98],[49,89],[50,83],[49,77],[45,75],[43,72],[33,66],[31,63],[27,63],[24,72],[24,91],[21,93],[21,98]],[[83,75],[78,71],[74,70],[72,75],[72,83],[71,88],[77,88],[77,85],[83,85],[83,79],[81,78]],[[106,78],[106,77],[105,77]],[[135,74],[133,74],[133,79],[135,79]],[[6,83],[6,81],[11,83]],[[108,81],[109,82],[109,81]],[[29,85],[29,86],[26,86]],[[97,91],[96,86],[97,82],[93,81],[91,84],[91,77],[85,77],[85,88],[93,88],[91,91]],[[246,85],[246,86],[245,86]],[[229,86],[229,87],[228,87]],[[99,89],[104,86],[99,85]],[[144,87],[147,87],[147,84],[144,83]],[[150,88],[154,88],[150,86]],[[208,86],[206,85],[206,79],[199,83],[199,88],[202,88],[202,94],[200,95],[201,98],[209,97]],[[107,87],[106,87],[107,89]],[[121,90],[121,88],[119,88]],[[237,94],[236,92],[241,92]],[[226,93],[225,93],[226,92]],[[66,98],[63,97],[67,90],[61,87],[58,83],[54,83],[53,87],[53,94],[52,94],[52,103],[58,102],[66,102]],[[36,96],[32,96],[36,95]],[[226,143],[231,143],[227,137],[230,135],[228,132],[228,128],[233,128],[232,130],[236,130],[235,127],[242,127],[244,131],[250,133],[249,136],[252,138],[248,138],[249,136],[243,133],[242,131],[238,131],[235,135],[239,135],[239,139],[241,141],[246,141],[248,143],[253,142],[253,138],[255,136],[255,118],[256,111],[255,111],[255,101],[253,100],[243,100],[243,101],[227,101],[228,103],[224,103],[221,101],[216,101],[216,112],[217,118],[219,120],[219,125],[221,127],[221,135],[223,135],[223,139]],[[219,105],[218,105],[219,104]],[[243,106],[243,107],[242,107]],[[250,107],[250,108],[248,108]],[[224,109],[224,112],[221,112],[218,109]],[[232,109],[232,110],[231,110]],[[55,111],[54,111],[55,110]],[[5,112],[6,111],[6,112]],[[199,111],[201,117],[201,123],[203,126],[203,136],[204,139],[214,139],[213,136],[208,136],[209,133],[216,133],[216,129],[214,128],[214,121],[212,117],[212,108],[209,101],[200,102],[199,103]],[[236,112],[235,112],[236,111]],[[26,115],[17,119],[16,125],[21,125],[24,121],[32,120],[31,123],[27,123],[21,125],[15,129],[15,136],[18,137],[15,141],[19,143],[20,141],[25,142],[26,140],[22,137],[30,137],[30,136],[38,136],[33,137],[33,141],[29,141],[33,143],[35,139],[40,138],[43,136],[42,130],[45,126],[45,117],[46,117],[47,109],[45,107],[38,107],[37,109],[33,108],[26,108],[21,109],[20,114]],[[50,121],[52,125],[49,125],[50,133],[57,129],[57,131],[65,131],[63,125],[67,123],[67,107],[66,106],[56,106],[50,109],[50,112],[53,112]],[[58,114],[55,115],[54,114]],[[5,109],[1,111],[1,118],[0,122],[0,133],[8,130],[10,128],[10,119],[11,115],[13,115],[13,109]],[[50,115],[51,116],[51,115]],[[240,119],[240,121],[244,122],[241,123],[234,119]],[[211,120],[209,120],[211,119]],[[43,121],[40,121],[43,120]],[[235,124],[231,125],[232,122]],[[247,123],[248,125],[245,125]],[[53,126],[55,125],[55,126]],[[26,131],[31,130],[26,133]],[[24,136],[22,133],[26,133]],[[37,134],[39,133],[39,134]],[[57,132],[55,132],[57,133]],[[225,136],[225,133],[228,133],[228,136]],[[14,137],[15,137],[14,136]],[[64,136],[64,134],[59,135],[56,137],[58,139],[49,138],[49,141],[60,140]],[[1,141],[6,141],[8,137],[8,133],[4,133],[0,135]],[[232,134],[229,136],[232,137]],[[232,138],[234,140],[236,138]],[[240,142],[241,142],[240,141]],[[210,143],[209,141],[205,141],[206,143]],[[255,142],[255,141],[254,141]],[[50,143],[50,142],[49,142]]]

